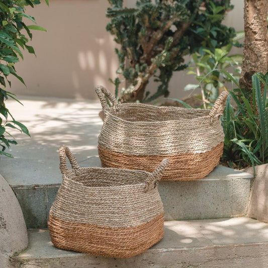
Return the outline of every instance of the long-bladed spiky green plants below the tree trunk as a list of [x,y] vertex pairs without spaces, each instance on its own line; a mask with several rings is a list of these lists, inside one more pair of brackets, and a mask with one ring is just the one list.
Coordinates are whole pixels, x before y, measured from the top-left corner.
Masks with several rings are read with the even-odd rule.
[[[231,75],[229,77],[238,86],[237,81]],[[255,73],[252,84],[252,91],[246,94],[240,88],[230,91],[226,102],[222,118],[225,133],[222,161],[231,167],[254,167],[268,162],[268,72],[265,75]],[[251,98],[253,109],[249,103]]]

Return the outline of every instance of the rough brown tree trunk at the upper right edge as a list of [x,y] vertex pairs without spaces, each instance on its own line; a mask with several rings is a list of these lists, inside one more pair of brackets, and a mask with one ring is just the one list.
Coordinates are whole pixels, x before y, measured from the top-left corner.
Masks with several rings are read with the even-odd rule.
[[244,31],[242,72],[239,86],[252,89],[251,77],[255,72],[266,73],[268,66],[267,0],[244,0]]

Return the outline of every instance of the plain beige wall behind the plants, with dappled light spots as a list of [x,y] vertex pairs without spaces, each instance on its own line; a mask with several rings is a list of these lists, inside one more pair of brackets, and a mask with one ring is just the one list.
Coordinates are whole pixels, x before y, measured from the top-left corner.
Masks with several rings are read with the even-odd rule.
[[[232,2],[235,10],[227,15],[226,24],[243,30],[243,0]],[[127,1],[128,6],[134,3]],[[11,91],[19,95],[96,99],[95,85],[112,89],[108,79],[116,75],[117,57],[113,37],[105,29],[109,21],[105,17],[107,7],[106,0],[50,0],[49,7],[42,3],[35,9],[28,8],[27,14],[47,32],[33,31],[31,44],[36,57],[25,51],[24,60],[17,64],[27,88],[15,78]],[[189,82],[195,82],[192,76],[175,72],[170,97],[186,96],[183,88]],[[151,82],[148,89],[154,88]]]

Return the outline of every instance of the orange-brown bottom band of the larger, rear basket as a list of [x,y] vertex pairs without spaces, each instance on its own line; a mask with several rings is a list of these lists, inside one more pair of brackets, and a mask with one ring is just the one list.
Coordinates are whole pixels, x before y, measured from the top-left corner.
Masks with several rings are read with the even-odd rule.
[[223,142],[205,153],[132,155],[114,152],[98,145],[103,167],[141,169],[152,172],[163,158],[169,159],[161,181],[195,181],[216,167],[223,153]]

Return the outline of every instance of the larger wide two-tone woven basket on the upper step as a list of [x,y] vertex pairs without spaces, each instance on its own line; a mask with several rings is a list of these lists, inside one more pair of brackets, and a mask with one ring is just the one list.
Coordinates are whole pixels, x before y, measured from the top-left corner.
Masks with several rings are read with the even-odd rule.
[[227,92],[211,110],[119,104],[103,86],[97,86],[96,93],[104,111],[98,145],[103,167],[151,172],[166,157],[170,164],[162,180],[192,181],[219,164],[224,141],[219,118]]

